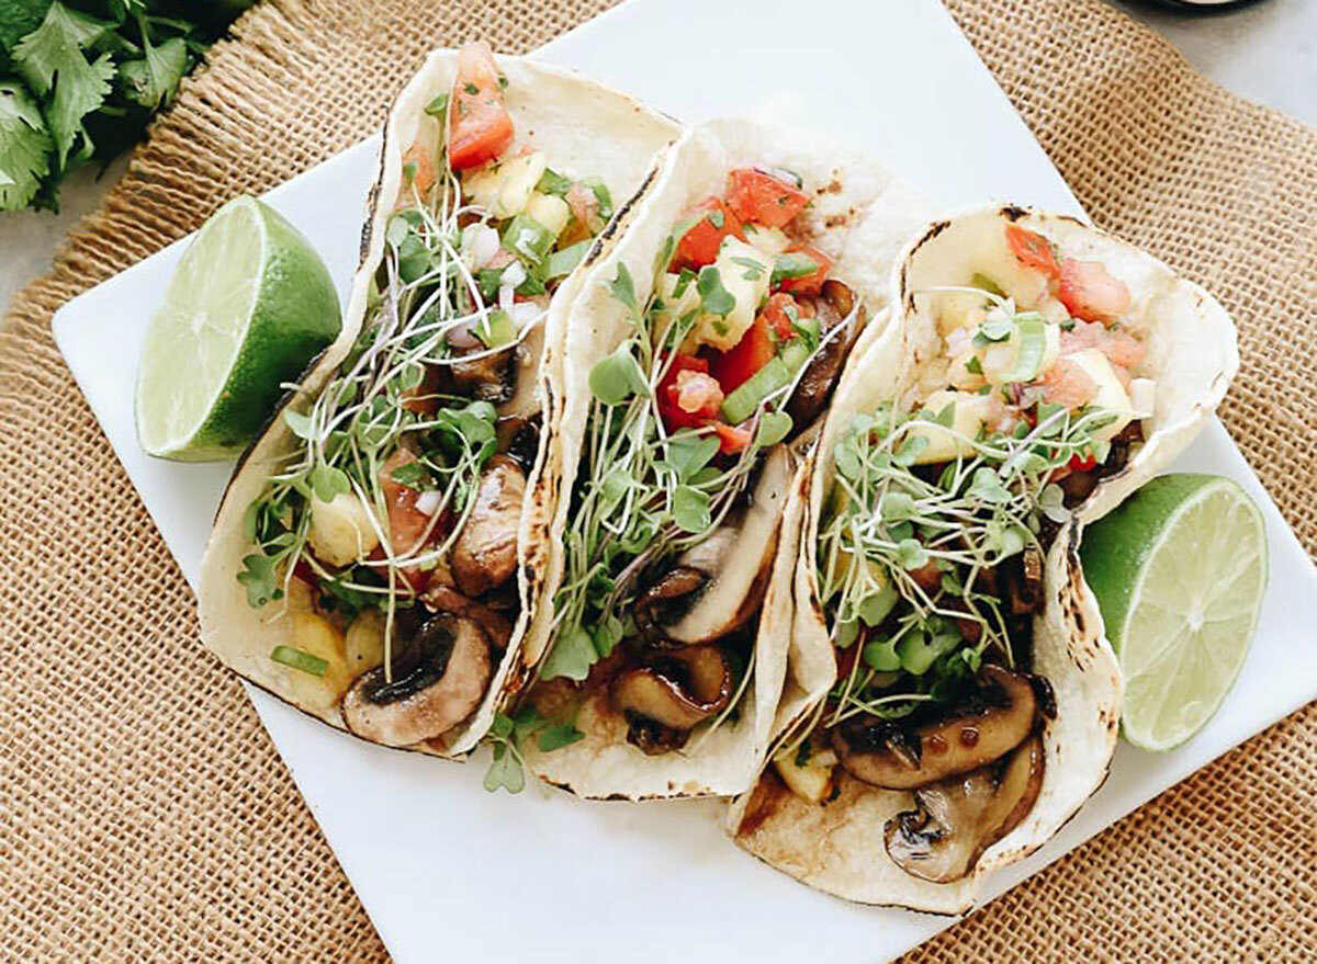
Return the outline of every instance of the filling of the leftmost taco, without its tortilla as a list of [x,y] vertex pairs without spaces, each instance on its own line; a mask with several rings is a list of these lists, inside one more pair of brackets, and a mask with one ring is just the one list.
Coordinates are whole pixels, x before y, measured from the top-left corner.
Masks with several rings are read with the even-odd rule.
[[519,140],[506,86],[469,45],[425,107],[361,335],[309,410],[284,412],[300,442],[245,516],[237,578],[288,618],[269,660],[299,703],[389,745],[441,748],[508,645],[541,323],[611,216],[605,184]]

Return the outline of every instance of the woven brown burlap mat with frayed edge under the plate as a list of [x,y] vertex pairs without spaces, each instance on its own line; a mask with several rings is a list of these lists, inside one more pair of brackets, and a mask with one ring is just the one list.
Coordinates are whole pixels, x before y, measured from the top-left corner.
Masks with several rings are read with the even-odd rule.
[[[195,644],[191,594],[50,316],[233,192],[361,138],[425,49],[479,34],[525,50],[607,4],[266,0],[14,303],[0,335],[4,960],[386,959],[255,714]],[[951,8],[1097,223],[1235,316],[1243,369],[1222,416],[1313,552],[1317,133],[1222,92],[1098,0]],[[909,960],[1313,960],[1314,785],[1309,707]]]

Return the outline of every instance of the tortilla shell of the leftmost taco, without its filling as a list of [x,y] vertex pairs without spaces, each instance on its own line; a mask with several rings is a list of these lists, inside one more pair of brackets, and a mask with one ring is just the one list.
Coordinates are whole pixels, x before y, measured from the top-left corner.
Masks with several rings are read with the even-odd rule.
[[[516,57],[499,57],[498,65],[508,80],[504,97],[518,142],[543,150],[553,170],[561,174],[574,179],[599,178],[619,200],[641,190],[652,176],[657,153],[678,133],[677,124],[669,119],[570,71]],[[245,591],[237,581],[242,557],[252,552],[244,535],[242,516],[263,490],[267,474],[277,465],[275,460],[288,452],[295,441],[282,417],[284,410],[304,411],[308,407],[361,331],[371,279],[383,258],[385,225],[403,190],[403,153],[417,140],[432,149],[439,144],[439,121],[428,116],[424,108],[436,96],[452,91],[456,74],[457,51],[436,50],[399,94],[385,125],[379,174],[367,201],[361,261],[344,312],[342,332],[307,370],[299,387],[275,412],[265,435],[238,462],[202,562],[198,595],[205,647],[261,689],[338,728],[344,728],[338,707],[325,710],[299,703],[290,685],[291,674],[298,670],[270,660],[271,649],[287,643],[288,620],[275,618],[281,611],[278,603],[255,610],[246,602]],[[615,237],[614,224],[601,234],[585,263],[560,284],[549,306],[551,320],[566,311],[579,290],[581,277],[589,270],[589,263],[601,257]],[[529,373],[523,374],[528,375]],[[541,442],[541,461],[543,457]],[[525,515],[528,512],[523,511],[523,516]],[[506,702],[510,670],[518,665],[520,640],[529,619],[527,602],[537,595],[535,576],[543,572],[535,564],[537,550],[537,547],[524,543],[519,547],[523,558],[518,574],[522,614],[481,706],[466,723],[448,735],[444,747],[428,741],[415,749],[441,756],[469,752],[489,730],[495,711]]]

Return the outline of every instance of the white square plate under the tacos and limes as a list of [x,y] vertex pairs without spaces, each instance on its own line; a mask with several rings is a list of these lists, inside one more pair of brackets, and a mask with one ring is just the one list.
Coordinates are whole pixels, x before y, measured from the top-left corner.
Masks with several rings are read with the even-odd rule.
[[[1011,199],[1080,213],[938,0],[763,0],[752,8],[631,0],[537,55],[686,120],[748,113],[814,128],[872,151],[947,205]],[[377,150],[377,140],[366,141],[267,195],[320,249],[341,294]],[[150,460],[133,431],[142,333],[184,244],[70,302],[54,333],[195,585],[229,466]],[[1221,712],[1185,747],[1151,756],[1122,745],[1097,797],[1031,860],[994,877],[989,897],[1317,697],[1312,562],[1218,423],[1175,468],[1231,475],[1262,506],[1271,587],[1249,662]],[[252,698],[402,963],[506,959],[522,948],[533,948],[537,961],[620,951],[622,960],[664,964],[751,955],[872,963],[950,923],[807,890],[727,842],[714,802],[583,803],[533,788],[491,795],[481,789],[483,760],[457,766],[370,747],[265,694]]]

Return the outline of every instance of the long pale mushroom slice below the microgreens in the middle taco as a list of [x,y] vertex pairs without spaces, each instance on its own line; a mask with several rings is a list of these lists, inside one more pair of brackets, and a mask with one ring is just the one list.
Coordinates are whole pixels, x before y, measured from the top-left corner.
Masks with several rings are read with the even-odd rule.
[[[749,504],[687,549],[637,601],[637,622],[677,643],[711,643],[759,611],[777,548],[778,522],[790,485],[790,456],[774,448],[764,460]],[[677,590],[686,589],[680,597]],[[661,602],[661,604],[658,604]]]

